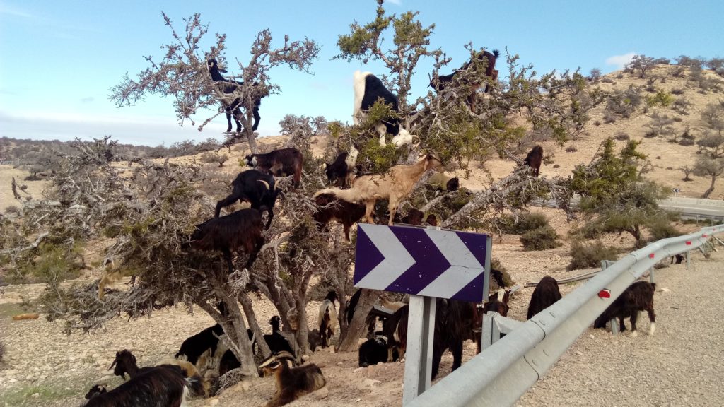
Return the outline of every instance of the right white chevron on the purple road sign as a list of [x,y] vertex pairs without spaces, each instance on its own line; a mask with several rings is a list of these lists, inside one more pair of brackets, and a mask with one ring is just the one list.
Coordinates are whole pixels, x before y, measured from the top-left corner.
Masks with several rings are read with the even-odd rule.
[[457,233],[442,230],[425,230],[425,232],[445,256],[450,267],[423,288],[418,295],[450,298],[484,272],[482,264],[468,250],[468,246],[460,240]]

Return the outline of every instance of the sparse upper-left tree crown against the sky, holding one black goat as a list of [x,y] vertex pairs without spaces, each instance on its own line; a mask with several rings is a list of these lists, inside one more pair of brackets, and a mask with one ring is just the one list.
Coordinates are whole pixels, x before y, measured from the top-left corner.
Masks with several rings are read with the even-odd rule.
[[161,46],[166,50],[161,61],[155,62],[153,56],[145,57],[150,67],[140,72],[138,79],[134,80],[126,74],[119,85],[111,88],[111,100],[120,107],[135,104],[149,94],[172,97],[180,125],[186,119],[195,125],[194,114],[200,109],[214,108],[217,113],[198,126],[201,131],[211,119],[223,112],[223,109],[218,110],[222,101],[230,104],[235,98],[241,98],[244,110],[243,117],[240,117],[243,134],[227,135],[224,145],[229,146],[245,139],[251,150],[256,151],[256,137],[251,125],[254,103],[257,98],[281,91],[279,85],[271,81],[269,70],[287,65],[295,70],[309,72],[313,60],[319,54],[319,46],[306,38],[303,41],[290,41],[285,36],[284,44],[275,48],[271,45],[269,29],[260,31],[251,45],[251,57],[247,64],[239,64],[240,75],[230,77],[243,84],[238,85],[234,93],[225,94],[223,84],[211,81],[206,61],[214,58],[224,64],[226,35],[216,34],[215,42],[203,48],[209,26],[201,22],[200,14],[184,19],[185,31],[182,34],[177,32],[165,13],[163,16],[164,23],[171,29],[173,42]]

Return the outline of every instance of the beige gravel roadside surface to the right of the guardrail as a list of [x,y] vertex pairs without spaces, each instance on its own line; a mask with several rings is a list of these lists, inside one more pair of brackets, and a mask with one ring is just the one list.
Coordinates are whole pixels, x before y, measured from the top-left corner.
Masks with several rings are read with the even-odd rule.
[[654,336],[590,328],[517,405],[724,406],[724,251],[692,259],[655,272]]

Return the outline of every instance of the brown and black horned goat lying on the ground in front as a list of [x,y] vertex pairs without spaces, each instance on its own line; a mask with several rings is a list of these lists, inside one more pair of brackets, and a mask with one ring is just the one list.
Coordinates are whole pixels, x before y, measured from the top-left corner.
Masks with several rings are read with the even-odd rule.
[[308,364],[291,367],[285,363],[293,360],[294,356],[290,353],[280,352],[272,354],[259,365],[265,376],[273,373],[277,382],[277,393],[274,393],[269,403],[266,403],[266,407],[284,406],[327,384],[327,379],[324,379],[319,366]]

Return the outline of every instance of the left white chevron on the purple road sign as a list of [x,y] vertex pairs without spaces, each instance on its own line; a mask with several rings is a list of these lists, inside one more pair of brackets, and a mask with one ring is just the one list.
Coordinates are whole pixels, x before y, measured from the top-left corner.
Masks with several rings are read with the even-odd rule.
[[[374,227],[374,225],[359,224],[375,248],[382,253],[382,260],[371,272],[357,282],[361,287],[377,287],[384,290],[401,274],[407,271],[415,260],[410,256],[405,246],[397,240],[389,227]],[[457,291],[456,291],[457,293]]]

